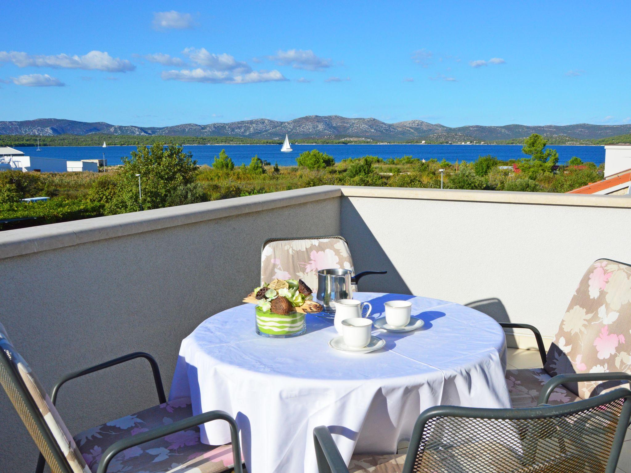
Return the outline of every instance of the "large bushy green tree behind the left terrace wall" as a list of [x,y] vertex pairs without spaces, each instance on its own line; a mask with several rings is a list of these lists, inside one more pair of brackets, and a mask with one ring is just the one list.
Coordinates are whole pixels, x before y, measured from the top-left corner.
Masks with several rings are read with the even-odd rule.
[[[197,173],[197,161],[191,153],[184,153],[182,146],[174,144],[138,146],[138,151],[131,152],[131,158],[125,156],[122,161],[114,197],[105,202],[107,214],[165,207],[171,194],[180,186],[194,182]],[[142,202],[139,202],[136,174],[141,178]]]

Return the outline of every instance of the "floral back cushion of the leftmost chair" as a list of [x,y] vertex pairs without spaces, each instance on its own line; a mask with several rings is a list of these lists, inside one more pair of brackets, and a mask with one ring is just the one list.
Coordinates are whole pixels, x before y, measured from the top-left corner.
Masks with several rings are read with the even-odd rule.
[[44,419],[45,424],[50,429],[50,433],[52,433],[61,452],[66,457],[73,473],[90,473],[90,470],[81,457],[79,449],[74,443],[73,437],[61,420],[59,412],[57,412],[57,409],[53,406],[48,394],[46,394],[44,388],[40,385],[35,374],[31,371],[30,366],[28,366],[27,362],[20,356],[20,353],[15,351],[2,325],[0,325],[0,349],[3,352],[3,356],[6,356],[9,362],[13,364],[33,404],[37,406],[42,419]]

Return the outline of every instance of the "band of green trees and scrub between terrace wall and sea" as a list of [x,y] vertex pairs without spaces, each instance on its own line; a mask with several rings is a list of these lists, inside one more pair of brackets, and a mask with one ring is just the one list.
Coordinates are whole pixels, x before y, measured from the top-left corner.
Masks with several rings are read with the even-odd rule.
[[[445,170],[446,189],[567,192],[602,178],[593,163],[581,163],[578,158],[572,158],[569,166],[553,166],[557,155],[553,150],[543,151],[545,141],[540,136],[530,137],[524,146],[528,157],[519,161],[500,161],[487,155],[456,166],[445,160],[422,161],[412,156],[386,160],[363,156],[334,163],[331,156],[314,149],[298,156],[297,166],[285,167],[271,166],[258,156],[252,157],[249,165],[235,166],[225,149],[212,167],[197,166],[191,153],[184,153],[181,146],[156,143],[150,148],[138,146],[138,151],[124,158],[122,166],[102,173],[0,172],[0,220],[36,218],[0,223],[0,230],[315,185],[439,189],[441,168]],[[513,172],[515,163],[521,172]],[[576,167],[579,165],[580,169]],[[142,199],[136,174],[141,175]],[[21,201],[39,196],[51,199],[33,204]]]

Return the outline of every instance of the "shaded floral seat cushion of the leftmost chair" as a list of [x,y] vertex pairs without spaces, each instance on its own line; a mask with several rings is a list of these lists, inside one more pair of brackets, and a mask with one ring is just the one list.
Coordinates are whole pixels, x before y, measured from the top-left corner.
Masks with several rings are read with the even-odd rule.
[[[83,431],[74,440],[94,473],[112,443],[191,416],[191,400],[181,397]],[[219,473],[233,465],[231,445],[205,445],[199,441],[199,427],[195,427],[124,450],[110,462],[107,472]]]

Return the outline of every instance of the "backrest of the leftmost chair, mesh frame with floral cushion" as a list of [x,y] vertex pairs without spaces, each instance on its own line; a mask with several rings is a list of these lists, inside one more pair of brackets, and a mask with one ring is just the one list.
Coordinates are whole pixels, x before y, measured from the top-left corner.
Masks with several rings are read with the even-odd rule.
[[[90,473],[59,412],[27,362],[9,341],[2,324],[0,384],[53,473]],[[6,447],[11,448],[10,445]]]

